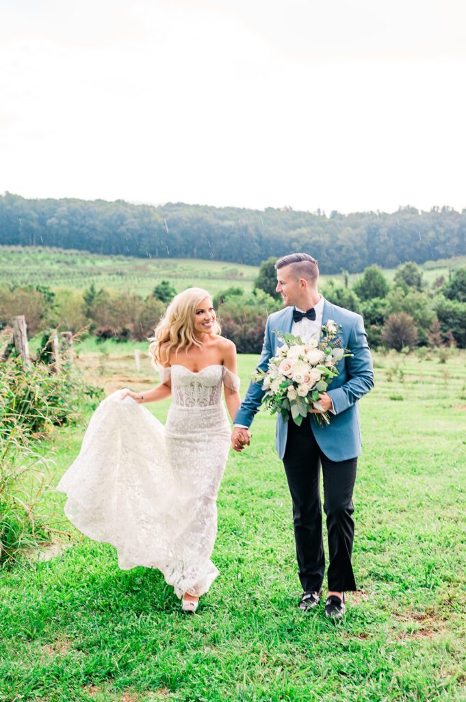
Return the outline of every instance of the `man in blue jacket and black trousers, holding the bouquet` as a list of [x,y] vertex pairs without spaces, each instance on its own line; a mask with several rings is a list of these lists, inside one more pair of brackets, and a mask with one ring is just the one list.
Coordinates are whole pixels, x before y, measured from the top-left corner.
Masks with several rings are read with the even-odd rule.
[[[341,344],[352,355],[338,362],[338,376],[329,391],[320,395],[323,411],[331,413],[329,425],[322,427],[312,413],[297,426],[277,413],[275,447],[285,465],[292,496],[294,538],[299,578],[303,586],[300,609],[319,604],[324,580],[324,543],[320,504],[320,466],[324,477],[324,512],[327,515],[329,542],[329,591],[325,614],[340,618],[345,613],[345,590],[355,590],[351,565],[355,524],[352,520],[352,489],[355,484],[357,456],[361,453],[361,433],[357,401],[374,385],[371,353],[362,317],[332,305],[317,291],[319,268],[308,253],[290,253],[275,263],[276,290],[285,309],[267,319],[262,355],[257,369],[266,371],[268,362],[281,342],[275,331],[292,332],[305,342],[320,333],[321,326],[333,319],[341,326]],[[249,445],[249,427],[259,410],[264,391],[261,383],[250,383],[247,395],[235,416],[231,437],[233,449]]]

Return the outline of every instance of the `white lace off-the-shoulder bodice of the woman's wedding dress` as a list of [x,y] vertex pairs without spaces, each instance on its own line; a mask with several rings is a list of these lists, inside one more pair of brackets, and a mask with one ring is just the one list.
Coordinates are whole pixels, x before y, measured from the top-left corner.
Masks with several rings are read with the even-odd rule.
[[157,366],[160,382],[169,378],[172,384],[172,402],[180,407],[212,407],[221,403],[221,385],[238,392],[240,378],[220,364],[191,371],[186,366],[174,364],[170,368]]

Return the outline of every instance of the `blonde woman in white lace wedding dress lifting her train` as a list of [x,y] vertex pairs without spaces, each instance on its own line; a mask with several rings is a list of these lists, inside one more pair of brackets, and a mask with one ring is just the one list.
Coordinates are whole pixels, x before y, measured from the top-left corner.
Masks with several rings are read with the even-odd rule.
[[[241,402],[235,345],[220,331],[207,291],[175,296],[149,347],[160,384],[104,399],[57,485],[77,529],[113,544],[122,569],[158,568],[191,612],[219,574],[210,557],[231,436],[222,384],[232,420]],[[142,404],[170,395],[164,427]]]

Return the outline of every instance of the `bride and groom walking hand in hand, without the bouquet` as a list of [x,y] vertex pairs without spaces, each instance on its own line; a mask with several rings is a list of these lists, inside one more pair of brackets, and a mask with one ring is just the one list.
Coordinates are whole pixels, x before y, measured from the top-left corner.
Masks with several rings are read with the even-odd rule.
[[[351,554],[352,491],[361,453],[357,400],[374,384],[371,355],[362,317],[318,292],[312,256],[292,253],[275,268],[284,308],[267,319],[257,369],[266,371],[280,348],[276,332],[292,332],[306,343],[319,337],[329,319],[341,328],[341,345],[350,350],[338,362],[328,392],[320,395],[329,424],[313,420],[320,410],[310,411],[301,425],[278,413],[275,442],[292,496],[304,611],[317,607],[324,581],[322,466],[329,547],[325,614],[341,618],[345,591],[356,589]],[[243,451],[250,444],[249,428],[265,392],[261,383],[251,382],[241,401],[235,346],[220,331],[207,291],[191,288],[175,296],[150,347],[160,384],[109,395],[92,415],[81,452],[57,486],[67,494],[67,517],[83,534],[113,544],[123,569],[142,565],[162,571],[188,612],[196,611],[218,575],[211,561],[217,492],[230,446]],[[170,396],[162,425],[142,404]]]

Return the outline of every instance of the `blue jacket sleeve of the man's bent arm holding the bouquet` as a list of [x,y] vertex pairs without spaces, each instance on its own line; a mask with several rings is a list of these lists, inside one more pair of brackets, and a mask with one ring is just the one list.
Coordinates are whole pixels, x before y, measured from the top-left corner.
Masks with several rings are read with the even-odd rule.
[[348,347],[352,356],[345,359],[349,380],[339,388],[327,390],[334,404],[335,414],[350,408],[366,392],[374,387],[374,369],[372,366],[371,351],[367,343],[366,330],[360,314],[353,324]]

